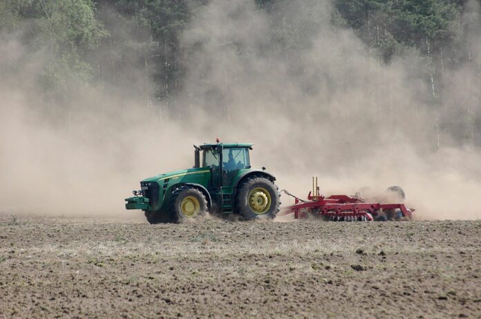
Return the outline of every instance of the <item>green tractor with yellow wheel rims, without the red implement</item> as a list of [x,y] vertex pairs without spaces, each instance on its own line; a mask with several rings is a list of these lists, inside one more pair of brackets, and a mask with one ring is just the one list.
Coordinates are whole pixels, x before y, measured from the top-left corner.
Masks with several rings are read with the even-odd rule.
[[151,224],[202,220],[207,211],[243,220],[276,217],[281,204],[276,177],[265,167],[251,168],[252,144],[217,141],[194,148],[193,168],[142,180],[141,190],[126,198],[126,209],[142,209]]

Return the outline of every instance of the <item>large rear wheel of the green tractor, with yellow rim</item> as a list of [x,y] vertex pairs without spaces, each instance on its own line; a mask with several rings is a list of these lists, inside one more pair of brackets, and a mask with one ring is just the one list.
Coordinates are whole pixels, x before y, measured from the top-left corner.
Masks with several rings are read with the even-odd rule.
[[235,212],[245,220],[275,218],[281,204],[278,190],[276,184],[266,177],[247,177],[238,186]]

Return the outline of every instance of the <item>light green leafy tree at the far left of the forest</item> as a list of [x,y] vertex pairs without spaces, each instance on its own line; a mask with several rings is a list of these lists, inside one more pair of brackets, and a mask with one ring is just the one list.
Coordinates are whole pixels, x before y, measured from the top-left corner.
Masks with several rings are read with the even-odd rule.
[[[39,83],[51,97],[64,96],[72,86],[93,78],[84,61],[87,52],[108,36],[95,17],[91,0],[19,0],[0,4],[0,30],[19,28],[24,46],[41,52]],[[21,23],[23,22],[23,23]]]

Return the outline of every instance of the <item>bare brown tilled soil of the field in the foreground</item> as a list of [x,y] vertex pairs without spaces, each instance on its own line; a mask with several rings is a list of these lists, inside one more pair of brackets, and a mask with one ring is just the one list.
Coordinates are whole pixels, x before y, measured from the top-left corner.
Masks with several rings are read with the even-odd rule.
[[480,318],[481,221],[0,215],[1,318]]

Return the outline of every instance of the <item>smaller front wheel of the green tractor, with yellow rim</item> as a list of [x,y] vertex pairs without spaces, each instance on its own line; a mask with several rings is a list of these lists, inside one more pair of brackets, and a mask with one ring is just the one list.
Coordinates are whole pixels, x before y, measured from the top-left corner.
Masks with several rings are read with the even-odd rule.
[[207,200],[198,189],[180,186],[170,196],[169,211],[173,213],[176,222],[202,220],[207,211]]

